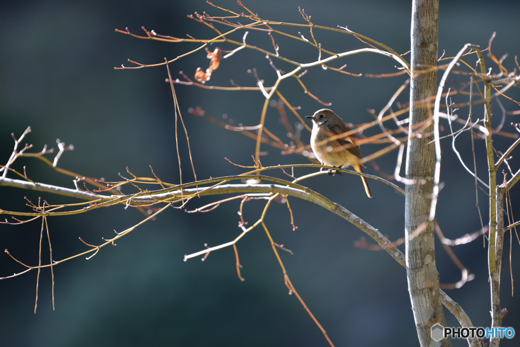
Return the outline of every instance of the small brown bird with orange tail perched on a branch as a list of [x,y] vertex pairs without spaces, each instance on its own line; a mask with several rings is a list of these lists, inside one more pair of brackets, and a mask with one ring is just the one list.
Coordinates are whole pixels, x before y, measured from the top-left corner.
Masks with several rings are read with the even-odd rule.
[[[332,110],[327,108],[318,110],[314,115],[307,115],[313,120],[313,132],[310,135],[310,146],[313,148],[316,158],[327,166],[335,168],[346,168],[352,165],[354,170],[363,172],[361,164],[351,164],[352,161],[363,158],[356,135],[348,135],[343,138],[330,140],[331,136],[350,131],[343,120]],[[363,186],[369,198],[372,197],[367,179],[361,176]]]

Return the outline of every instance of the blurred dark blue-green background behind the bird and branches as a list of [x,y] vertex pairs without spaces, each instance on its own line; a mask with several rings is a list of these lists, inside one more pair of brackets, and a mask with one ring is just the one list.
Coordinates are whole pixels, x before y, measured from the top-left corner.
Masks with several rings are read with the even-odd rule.
[[[240,11],[233,0],[216,4]],[[391,46],[399,53],[409,50],[411,2],[407,1],[246,1],[258,15],[271,20],[304,23],[298,6],[312,15],[316,24],[349,29]],[[178,182],[174,137],[173,101],[170,86],[164,82],[165,67],[114,71],[114,66],[131,66],[128,58],[141,63],[172,59],[197,44],[170,44],[138,40],[114,33],[114,28],[128,27],[141,33],[144,25],[159,34],[199,38],[213,37],[212,31],[186,18],[194,11],[223,14],[204,1],[125,1],[125,2],[17,2],[0,7],[0,162],[5,163],[12,150],[10,133],[19,136],[27,126],[33,132],[28,143],[40,150],[44,144],[56,148],[60,138],[74,144],[75,150],[60,159],[59,166],[86,176],[118,180],[126,166],[136,175],[150,175],[148,165],[165,182]],[[514,68],[514,55],[520,47],[517,2],[441,1],[439,9],[439,50],[454,56],[465,43],[487,46],[493,31],[497,38],[493,52],[500,58],[510,57],[505,65]],[[297,33],[295,28],[284,28]],[[307,38],[308,32],[302,30]],[[317,40],[333,52],[364,47],[346,34],[315,31]],[[236,35],[241,40],[242,33]],[[280,54],[301,62],[317,58],[315,50],[275,35]],[[248,43],[272,50],[269,37],[250,32]],[[223,49],[235,48],[223,45]],[[439,54],[440,55],[440,54]],[[475,58],[467,58],[474,64]],[[184,70],[192,77],[197,67],[206,68],[208,60],[201,51],[171,65],[177,76]],[[396,71],[395,62],[379,55],[359,55],[335,61],[333,67],[348,64],[347,71],[387,73]],[[489,63],[489,62],[488,62]],[[275,60],[278,68],[290,66]],[[274,83],[276,75],[261,53],[242,50],[222,62],[210,85],[254,86],[246,70],[256,68],[265,85]],[[355,78],[314,68],[303,78],[309,90],[352,123],[370,121],[367,108],[379,111],[405,80]],[[194,165],[199,178],[210,175],[237,174],[233,162],[251,164],[254,142],[238,133],[187,113],[200,105],[220,118],[223,113],[236,123],[255,125],[263,104],[259,92],[221,92],[177,86],[177,95],[191,139]],[[294,80],[281,85],[281,91],[301,114],[321,108],[306,96]],[[518,90],[509,93],[518,99]],[[404,94],[401,102],[406,102]],[[505,100],[507,101],[507,100]],[[509,110],[518,109],[505,102]],[[493,105],[499,115],[497,105]],[[483,107],[475,107],[475,117],[482,118]],[[467,110],[459,111],[467,117]],[[292,122],[296,120],[290,115]],[[267,113],[267,127],[284,138],[275,109]],[[513,116],[506,123],[518,122]],[[446,124],[445,124],[446,125]],[[511,131],[511,128],[508,128]],[[375,134],[376,129],[366,132]],[[444,135],[447,134],[445,131]],[[309,134],[302,135],[308,142]],[[182,136],[180,137],[183,138]],[[181,141],[184,179],[192,179],[187,147]],[[495,146],[504,150],[511,140],[497,139]],[[470,138],[459,138],[458,148],[471,165]],[[477,142],[480,175],[485,178],[484,143]],[[379,149],[363,146],[367,154]],[[305,163],[301,156],[280,156],[279,150],[263,146],[269,155],[264,165]],[[467,174],[451,150],[451,140],[443,142],[445,183],[441,191],[439,223],[449,238],[457,238],[480,228],[475,208],[473,178]],[[396,153],[377,162],[392,173]],[[518,167],[513,159],[513,170]],[[40,182],[73,188],[72,178],[52,171],[36,160],[19,160],[15,169],[27,166],[29,177]],[[300,170],[298,174],[311,171]],[[369,166],[368,173],[374,173]],[[404,172],[404,169],[401,171]],[[273,173],[275,174],[275,173]],[[10,174],[9,177],[14,177]],[[501,179],[501,177],[500,177]],[[311,189],[342,204],[359,215],[390,239],[402,236],[404,198],[386,185],[371,181],[373,199],[366,198],[358,177],[346,175],[309,179]],[[126,189],[130,191],[129,189]],[[518,189],[512,191],[516,218],[520,216]],[[31,194],[18,189],[0,189],[0,208],[27,210],[24,196],[33,201],[42,196],[51,203],[70,202],[58,196]],[[213,201],[204,198],[191,208]],[[273,204],[266,223],[275,241],[290,248],[294,255],[281,256],[291,280],[310,310],[327,330],[336,346],[418,344],[407,291],[405,270],[385,252],[370,252],[353,247],[363,234],[339,217],[315,204],[291,199],[295,232],[290,227],[287,208]],[[487,204],[480,194],[484,215]],[[249,202],[245,218],[250,224],[259,216],[262,204]],[[237,202],[229,202],[205,214],[185,214],[178,210],[162,213],[157,221],[148,222],[118,240],[117,247],[103,248],[94,258],[83,257],[55,268],[56,311],[51,307],[50,271],[40,277],[38,311],[33,313],[36,272],[0,282],[0,339],[10,346],[264,346],[328,345],[321,332],[294,295],[283,285],[280,267],[265,233],[255,229],[238,243],[243,264],[240,282],[231,249],[216,251],[202,263],[198,259],[183,262],[183,255],[227,242],[240,233]],[[5,216],[9,217],[9,216]],[[87,247],[77,238],[98,244],[101,237],[112,237],[143,216],[125,211],[122,206],[99,209],[91,213],[49,218],[54,259],[67,258]],[[485,218],[486,221],[486,218]],[[22,226],[0,225],[0,249],[9,249],[21,261],[37,264],[40,222]],[[509,236],[509,235],[508,235]],[[438,243],[438,242],[437,242]],[[46,240],[44,239],[44,245]],[[505,248],[509,250],[509,237]],[[48,260],[43,247],[43,262]],[[459,302],[475,326],[490,325],[489,285],[487,282],[487,248],[482,241],[454,248],[461,261],[475,273],[474,281],[448,294]],[[507,252],[504,252],[507,253]],[[519,327],[520,305],[511,297],[508,256],[502,268],[502,302],[509,314],[503,325]],[[513,249],[515,278],[518,272],[518,244]],[[460,278],[456,266],[437,244],[437,266],[441,282]],[[0,258],[0,276],[22,271],[23,267],[7,254]],[[447,311],[446,311],[447,312]],[[457,326],[447,313],[448,326]],[[515,339],[518,340],[518,337]],[[517,345],[517,341],[502,345]],[[454,345],[466,345],[463,340]]]

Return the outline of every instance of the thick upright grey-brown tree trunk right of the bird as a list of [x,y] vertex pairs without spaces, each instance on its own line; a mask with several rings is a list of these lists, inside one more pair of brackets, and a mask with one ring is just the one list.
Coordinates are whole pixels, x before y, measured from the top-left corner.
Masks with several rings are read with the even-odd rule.
[[[437,66],[438,57],[438,0],[413,0],[411,23],[411,70],[425,70]],[[432,116],[428,108],[414,107],[414,103],[437,92],[437,72],[421,74],[410,83],[410,128]],[[432,131],[428,127],[425,132]],[[425,184],[406,186],[405,233],[408,290],[412,303],[415,327],[421,346],[451,346],[449,339],[439,342],[431,337],[435,324],[446,326],[439,297],[439,273],[435,265],[433,223],[424,228],[432,201],[435,147],[431,138],[413,138],[408,143],[406,178]],[[417,235],[420,230],[424,230]],[[415,232],[415,234],[414,234]]]

